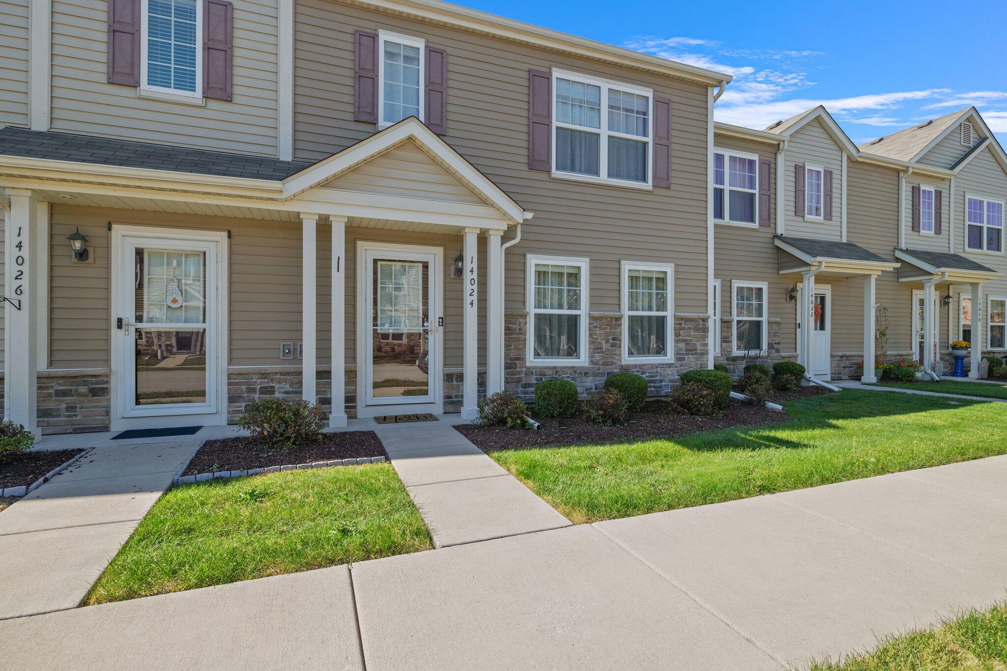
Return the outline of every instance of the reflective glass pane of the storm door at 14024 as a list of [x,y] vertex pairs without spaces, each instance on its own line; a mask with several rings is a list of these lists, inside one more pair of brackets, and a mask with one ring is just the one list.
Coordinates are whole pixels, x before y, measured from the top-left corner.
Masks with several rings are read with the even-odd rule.
[[374,398],[430,393],[428,267],[427,263],[415,261],[374,263]]

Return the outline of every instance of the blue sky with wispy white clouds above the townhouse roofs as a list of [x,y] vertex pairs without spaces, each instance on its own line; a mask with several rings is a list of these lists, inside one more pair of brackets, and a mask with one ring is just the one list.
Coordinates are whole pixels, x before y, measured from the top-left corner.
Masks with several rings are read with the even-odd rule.
[[463,0],[730,72],[716,117],[764,128],[823,104],[860,144],[975,105],[1007,144],[1007,3]]

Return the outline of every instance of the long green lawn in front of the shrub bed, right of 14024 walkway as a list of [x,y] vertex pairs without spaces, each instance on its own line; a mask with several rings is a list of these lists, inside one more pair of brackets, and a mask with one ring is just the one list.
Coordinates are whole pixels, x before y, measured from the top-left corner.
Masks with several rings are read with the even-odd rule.
[[583,523],[1007,454],[1007,403],[844,389],[783,405],[781,424],[490,457]]

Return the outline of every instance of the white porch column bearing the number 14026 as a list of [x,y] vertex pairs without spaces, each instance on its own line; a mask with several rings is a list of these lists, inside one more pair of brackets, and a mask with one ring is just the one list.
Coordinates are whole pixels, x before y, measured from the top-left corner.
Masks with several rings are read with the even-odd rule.
[[[4,418],[38,436],[38,325],[35,284],[38,208],[31,191],[7,189],[10,215],[4,222]],[[13,301],[13,304],[11,303]]]

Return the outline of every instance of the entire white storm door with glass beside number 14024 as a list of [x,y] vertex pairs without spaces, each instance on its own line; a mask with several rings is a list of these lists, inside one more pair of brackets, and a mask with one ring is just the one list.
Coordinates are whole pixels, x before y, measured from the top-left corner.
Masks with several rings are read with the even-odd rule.
[[442,412],[439,248],[361,243],[359,416]]

